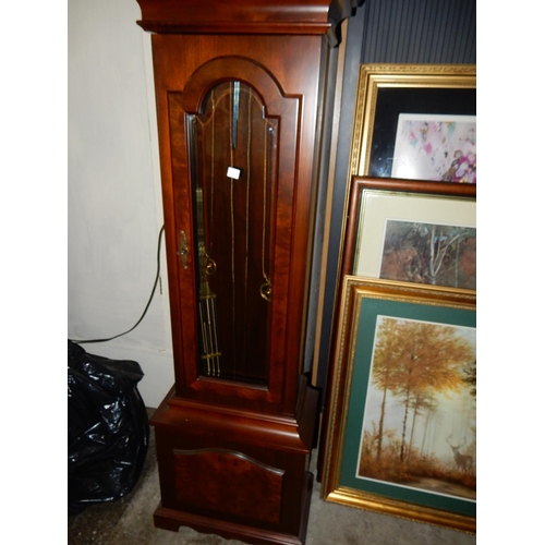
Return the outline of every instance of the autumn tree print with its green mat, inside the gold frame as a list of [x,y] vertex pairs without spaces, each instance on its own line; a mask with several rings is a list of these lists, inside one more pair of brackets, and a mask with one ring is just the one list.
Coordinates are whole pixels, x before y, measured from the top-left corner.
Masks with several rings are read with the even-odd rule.
[[341,485],[474,516],[475,313],[363,299]]

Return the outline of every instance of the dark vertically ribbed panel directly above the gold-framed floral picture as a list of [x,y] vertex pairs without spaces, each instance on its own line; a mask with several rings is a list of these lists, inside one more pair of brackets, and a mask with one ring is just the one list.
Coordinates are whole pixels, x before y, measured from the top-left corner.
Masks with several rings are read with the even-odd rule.
[[366,0],[361,63],[476,62],[475,0]]

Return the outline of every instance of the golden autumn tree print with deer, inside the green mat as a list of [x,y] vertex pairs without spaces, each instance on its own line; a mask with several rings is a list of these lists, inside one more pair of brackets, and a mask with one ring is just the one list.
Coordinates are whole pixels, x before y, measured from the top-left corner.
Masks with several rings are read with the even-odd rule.
[[379,316],[358,476],[476,497],[475,329]]

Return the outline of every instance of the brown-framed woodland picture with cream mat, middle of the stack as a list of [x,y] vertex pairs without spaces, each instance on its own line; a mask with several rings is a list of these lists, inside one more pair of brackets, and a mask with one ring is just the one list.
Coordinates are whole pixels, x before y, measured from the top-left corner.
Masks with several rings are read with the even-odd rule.
[[476,289],[476,185],[353,177],[341,272]]

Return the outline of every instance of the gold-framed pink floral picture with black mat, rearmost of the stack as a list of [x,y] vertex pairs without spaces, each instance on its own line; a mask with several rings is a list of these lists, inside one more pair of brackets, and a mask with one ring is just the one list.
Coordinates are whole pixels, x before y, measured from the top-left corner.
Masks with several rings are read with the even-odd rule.
[[[411,159],[405,157],[407,152],[414,152],[413,147],[420,146],[428,162],[427,169],[419,170],[411,179],[447,181],[458,161],[460,166],[456,170],[459,171],[469,169],[471,164],[473,170],[468,172],[465,180],[476,183],[476,126],[473,124],[473,131],[470,129],[468,134],[459,134],[468,129],[459,123],[474,123],[475,116],[476,66],[473,64],[363,64],[350,174],[409,178],[392,168],[395,164],[397,168],[407,166]],[[412,133],[414,138],[397,145],[398,134],[401,138],[403,126],[407,129],[411,122],[416,123],[416,132]],[[410,135],[411,132],[407,137]],[[447,140],[438,141],[436,136]],[[423,138],[427,138],[424,145]],[[459,147],[462,144],[464,147]],[[461,159],[460,154],[464,150],[468,155]],[[433,160],[438,162],[432,165],[431,178],[423,175]],[[461,172],[459,178],[463,179]],[[456,177],[451,175],[450,181],[457,181]]]

